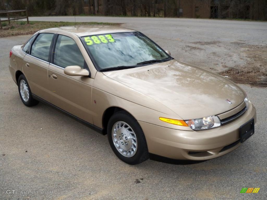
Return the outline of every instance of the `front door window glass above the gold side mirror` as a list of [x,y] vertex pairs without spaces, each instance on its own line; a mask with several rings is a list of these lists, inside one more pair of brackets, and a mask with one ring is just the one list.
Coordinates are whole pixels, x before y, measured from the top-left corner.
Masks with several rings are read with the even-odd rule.
[[58,35],[54,52],[54,64],[63,68],[71,65],[84,67],[84,57],[76,42],[67,36]]

